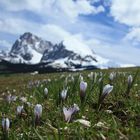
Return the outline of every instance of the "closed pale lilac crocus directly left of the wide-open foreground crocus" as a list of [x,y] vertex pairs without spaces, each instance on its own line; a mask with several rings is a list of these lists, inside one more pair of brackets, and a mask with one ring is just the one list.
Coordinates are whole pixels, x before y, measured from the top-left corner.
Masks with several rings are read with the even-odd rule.
[[37,104],[34,108],[35,125],[38,125],[42,116],[42,105]]

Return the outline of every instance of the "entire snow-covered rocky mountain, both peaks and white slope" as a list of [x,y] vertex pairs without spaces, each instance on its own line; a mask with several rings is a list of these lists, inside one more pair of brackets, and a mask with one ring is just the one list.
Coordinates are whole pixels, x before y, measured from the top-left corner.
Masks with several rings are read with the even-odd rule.
[[69,70],[102,68],[109,62],[82,43],[77,43],[76,40],[65,40],[53,44],[30,32],[21,35],[8,55],[0,55],[0,58],[11,64]]

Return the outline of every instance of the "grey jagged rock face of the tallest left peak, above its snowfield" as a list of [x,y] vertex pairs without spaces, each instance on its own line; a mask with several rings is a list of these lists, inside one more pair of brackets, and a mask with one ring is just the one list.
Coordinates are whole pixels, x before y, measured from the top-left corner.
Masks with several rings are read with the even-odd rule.
[[24,33],[14,43],[10,51],[10,56],[21,56],[24,60],[29,61],[33,58],[33,50],[39,54],[43,54],[45,50],[52,46],[53,45],[49,41],[44,41],[31,33]]

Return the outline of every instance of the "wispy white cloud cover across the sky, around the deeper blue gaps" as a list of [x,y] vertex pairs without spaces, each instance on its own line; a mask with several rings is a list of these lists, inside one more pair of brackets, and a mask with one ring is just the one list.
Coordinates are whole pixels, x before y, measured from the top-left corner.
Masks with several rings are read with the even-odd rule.
[[[104,12],[103,6],[94,7],[91,5],[99,1],[1,0],[0,5],[5,12],[0,13],[0,32],[12,35],[32,32],[53,43],[64,41],[67,47],[75,50],[80,46],[81,51],[86,52],[89,51],[87,49],[89,46],[97,54],[110,60],[140,65],[140,62],[138,62],[140,49],[133,48],[126,43],[128,40],[138,42],[140,39],[139,0],[133,0],[133,2],[132,0],[112,0],[111,15],[114,19],[119,23],[133,27],[126,35],[124,42],[116,38],[114,40],[112,35],[112,33],[124,32],[123,30],[118,31],[118,29],[113,29],[107,25],[79,18],[80,15]],[[108,3],[106,0],[104,5],[110,5],[110,1]],[[14,13],[22,13],[23,11],[37,14],[37,16],[43,18],[43,23],[28,20],[28,15],[24,18],[21,18],[20,15],[17,17],[14,15]]]

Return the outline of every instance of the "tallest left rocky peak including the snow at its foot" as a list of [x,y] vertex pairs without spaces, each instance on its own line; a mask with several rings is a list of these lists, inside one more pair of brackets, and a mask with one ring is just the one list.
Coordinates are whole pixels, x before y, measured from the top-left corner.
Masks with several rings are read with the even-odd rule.
[[44,51],[52,46],[49,41],[44,41],[31,33],[24,33],[15,41],[6,60],[12,63],[40,63]]

